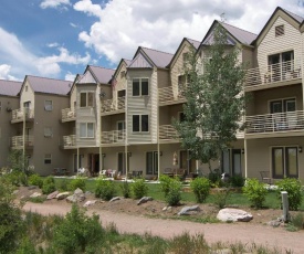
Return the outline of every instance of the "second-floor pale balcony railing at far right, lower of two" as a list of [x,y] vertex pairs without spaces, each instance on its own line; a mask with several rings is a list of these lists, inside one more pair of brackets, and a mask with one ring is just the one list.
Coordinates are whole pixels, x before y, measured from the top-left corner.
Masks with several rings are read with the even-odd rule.
[[275,133],[304,129],[304,112],[247,116],[245,133]]

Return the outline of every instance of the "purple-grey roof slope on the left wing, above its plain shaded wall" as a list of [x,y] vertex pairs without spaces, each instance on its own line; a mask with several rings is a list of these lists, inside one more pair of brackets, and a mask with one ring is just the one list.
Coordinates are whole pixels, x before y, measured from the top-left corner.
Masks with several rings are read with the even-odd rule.
[[24,82],[25,81],[30,83],[33,92],[59,95],[67,95],[73,84],[71,81],[29,75],[25,76]]

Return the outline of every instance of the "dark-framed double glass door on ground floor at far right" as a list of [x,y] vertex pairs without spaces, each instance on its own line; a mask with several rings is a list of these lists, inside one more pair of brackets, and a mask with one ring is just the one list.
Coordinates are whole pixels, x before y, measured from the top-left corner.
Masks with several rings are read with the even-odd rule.
[[297,147],[272,148],[273,178],[297,178]]

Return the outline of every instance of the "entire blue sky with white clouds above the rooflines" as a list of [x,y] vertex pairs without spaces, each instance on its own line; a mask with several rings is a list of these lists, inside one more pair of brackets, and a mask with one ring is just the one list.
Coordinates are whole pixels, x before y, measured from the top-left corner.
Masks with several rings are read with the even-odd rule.
[[175,53],[222,13],[259,33],[277,6],[304,17],[298,0],[1,0],[0,78],[73,80],[87,64],[115,68],[139,45]]

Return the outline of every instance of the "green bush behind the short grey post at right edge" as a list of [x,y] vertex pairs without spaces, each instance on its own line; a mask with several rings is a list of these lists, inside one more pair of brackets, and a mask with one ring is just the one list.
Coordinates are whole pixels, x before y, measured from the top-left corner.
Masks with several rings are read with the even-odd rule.
[[301,181],[294,178],[285,178],[277,183],[279,197],[281,200],[281,191],[289,193],[290,210],[297,211],[302,203]]

